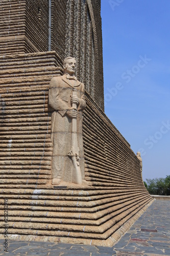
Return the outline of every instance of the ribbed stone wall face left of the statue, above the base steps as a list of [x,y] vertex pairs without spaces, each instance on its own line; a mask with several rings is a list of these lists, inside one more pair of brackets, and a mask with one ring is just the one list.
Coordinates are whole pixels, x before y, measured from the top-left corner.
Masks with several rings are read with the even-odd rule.
[[61,75],[56,56],[0,56],[0,186],[37,187],[51,180],[48,84]]

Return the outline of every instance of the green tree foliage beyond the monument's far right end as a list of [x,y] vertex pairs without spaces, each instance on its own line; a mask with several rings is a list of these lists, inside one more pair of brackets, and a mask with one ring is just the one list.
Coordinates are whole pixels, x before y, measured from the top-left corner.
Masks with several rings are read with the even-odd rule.
[[145,187],[151,195],[170,196],[170,175],[166,178],[146,179]]

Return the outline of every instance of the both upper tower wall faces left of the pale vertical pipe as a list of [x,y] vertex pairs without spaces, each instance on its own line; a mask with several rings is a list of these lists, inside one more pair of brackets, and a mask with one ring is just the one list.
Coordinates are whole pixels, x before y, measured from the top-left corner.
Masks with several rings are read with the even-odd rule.
[[0,7],[0,54],[48,50],[47,0],[2,0]]

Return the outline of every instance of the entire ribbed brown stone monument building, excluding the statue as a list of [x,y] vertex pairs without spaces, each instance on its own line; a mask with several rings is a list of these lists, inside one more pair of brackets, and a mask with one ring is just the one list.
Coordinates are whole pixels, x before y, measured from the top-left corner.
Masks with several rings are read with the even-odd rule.
[[[153,200],[139,160],[104,113],[100,5],[52,0],[48,51],[48,1],[0,3],[0,207],[3,216],[8,199],[11,239],[112,245],[115,231]],[[86,88],[83,142],[91,186],[82,189],[51,183],[48,88],[67,55],[76,57]]]

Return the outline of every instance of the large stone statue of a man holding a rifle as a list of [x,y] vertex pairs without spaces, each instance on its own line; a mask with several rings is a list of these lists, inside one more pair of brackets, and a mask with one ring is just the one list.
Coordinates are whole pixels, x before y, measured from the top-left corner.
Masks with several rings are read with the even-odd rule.
[[[82,113],[86,107],[84,84],[75,76],[76,59],[64,59],[64,74],[52,78],[50,82],[48,104],[52,111],[52,184],[61,182],[77,183],[74,181],[72,154],[72,120],[76,122],[76,138],[79,148],[77,165],[80,177],[77,184],[85,183],[84,151],[82,137]],[[81,179],[81,181],[80,181]]]

